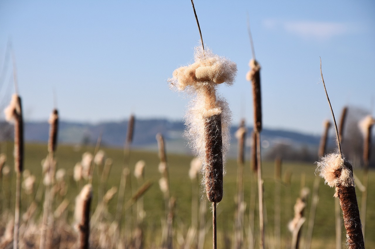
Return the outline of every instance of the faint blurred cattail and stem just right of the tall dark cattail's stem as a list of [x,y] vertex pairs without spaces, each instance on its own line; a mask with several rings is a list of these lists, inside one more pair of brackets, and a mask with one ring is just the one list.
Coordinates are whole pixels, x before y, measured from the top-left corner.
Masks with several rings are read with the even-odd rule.
[[275,245],[281,247],[281,158],[275,159]]

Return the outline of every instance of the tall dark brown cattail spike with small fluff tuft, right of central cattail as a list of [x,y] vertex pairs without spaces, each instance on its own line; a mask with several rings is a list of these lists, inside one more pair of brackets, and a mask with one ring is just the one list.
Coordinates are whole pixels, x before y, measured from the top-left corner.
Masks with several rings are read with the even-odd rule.
[[251,81],[253,89],[254,104],[254,130],[261,132],[262,130],[262,102],[260,90],[260,65],[255,59],[249,62],[251,70],[246,74],[246,79]]

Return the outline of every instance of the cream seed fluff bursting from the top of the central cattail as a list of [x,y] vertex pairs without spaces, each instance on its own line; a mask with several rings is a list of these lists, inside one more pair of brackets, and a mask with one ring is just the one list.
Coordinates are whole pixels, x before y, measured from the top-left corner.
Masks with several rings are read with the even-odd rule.
[[[194,96],[185,116],[185,135],[189,138],[190,147],[205,164],[205,120],[215,115],[221,117],[222,154],[225,162],[225,154],[229,149],[231,113],[225,99],[216,95],[216,88],[224,82],[228,86],[232,85],[236,73],[236,63],[199,46],[195,47],[194,63],[177,68],[173,77],[168,79],[172,90]],[[203,166],[202,170],[204,169]]]

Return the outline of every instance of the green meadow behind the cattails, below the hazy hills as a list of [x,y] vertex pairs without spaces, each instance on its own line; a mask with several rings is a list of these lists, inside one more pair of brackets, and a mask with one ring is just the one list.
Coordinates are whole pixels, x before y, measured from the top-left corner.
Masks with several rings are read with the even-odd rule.
[[[110,175],[106,182],[106,189],[110,189],[112,186],[118,187],[121,177],[121,169],[124,162],[124,151],[117,148],[101,148],[105,151],[106,157],[113,160]],[[65,220],[67,224],[73,226],[74,219],[74,205],[75,197],[80,192],[85,180],[81,182],[75,182],[73,179],[73,167],[77,162],[82,159],[82,154],[86,151],[94,153],[94,147],[75,147],[71,145],[58,145],[55,153],[55,159],[57,160],[57,169],[66,169],[65,182],[67,186],[66,196],[55,196],[55,203],[52,207],[52,211],[56,209],[59,203],[63,199],[67,198],[70,200],[69,206],[65,211]],[[10,178],[1,178],[1,230],[0,236],[4,233],[6,222],[9,220],[9,213],[14,212],[14,189],[15,189],[15,173],[13,170],[13,143],[1,144],[1,152],[7,154],[7,165],[10,166]],[[169,154],[166,151],[166,160],[169,171],[169,184],[170,194],[176,199],[176,206],[174,209],[173,219],[173,247],[181,248],[183,245],[184,238],[186,237],[187,230],[192,221],[192,182],[190,181],[188,172],[190,168],[190,161],[193,159],[192,156]],[[246,151],[249,153],[249,151]],[[44,185],[41,183],[42,178],[42,167],[41,161],[47,155],[47,145],[45,144],[26,144],[25,147],[25,163],[24,169],[30,170],[30,172],[36,176],[34,191],[32,194],[27,195],[25,191],[22,191],[21,195],[21,216],[26,212],[28,206],[34,199],[38,187],[44,191]],[[144,193],[144,248],[159,248],[160,238],[162,234],[162,217],[165,215],[165,203],[163,199],[163,193],[159,188],[160,173],[158,170],[159,157],[157,152],[153,151],[139,151],[130,150],[129,154],[129,168],[131,170],[131,184],[132,190],[129,187],[129,181],[127,182],[125,192],[125,202],[130,199],[133,193],[135,193],[137,187],[137,181],[133,175],[135,163],[138,160],[145,161],[145,173],[144,180],[153,182],[153,185]],[[355,167],[355,166],[354,166]],[[305,217],[309,217],[309,210],[312,199],[312,188],[315,179],[315,168],[316,165],[313,163],[282,163],[282,184],[281,184],[281,248],[288,248],[291,240],[291,233],[288,231],[288,222],[293,218],[294,211],[293,206],[299,197],[300,189],[302,186],[309,188],[310,194],[308,197],[307,206],[305,209]],[[219,248],[231,248],[233,238],[233,227],[234,227],[234,215],[236,210],[235,196],[237,193],[237,162],[235,159],[229,159],[225,166],[226,174],[224,176],[224,195],[222,201],[217,205],[217,244]],[[265,201],[265,236],[266,236],[266,248],[275,248],[273,242],[274,234],[274,199],[275,199],[275,169],[274,162],[262,162],[262,171],[264,179],[264,201]],[[354,173],[362,179],[362,170],[354,169]],[[91,205],[91,214],[94,212],[98,205],[98,174],[94,171],[93,173],[93,200]],[[290,176],[290,181],[288,180]],[[199,176],[200,178],[201,176]],[[285,178],[287,178],[285,180]],[[245,192],[244,200],[246,202],[246,211],[244,218],[244,243],[246,245],[248,241],[248,227],[249,227],[249,207],[254,205],[251,203],[251,187],[256,188],[256,179],[251,171],[250,162],[245,163]],[[10,181],[10,185],[9,185]],[[365,245],[366,248],[375,248],[375,199],[373,195],[375,193],[375,172],[369,171],[369,189],[368,189],[368,203],[367,203],[367,222],[366,222],[366,236]],[[10,191],[10,192],[9,192]],[[39,190],[40,191],[40,190]],[[324,185],[324,180],[320,179],[319,187],[319,203],[317,206],[317,212],[315,216],[314,232],[312,236],[312,248],[335,248],[335,198],[333,198],[335,190],[333,188]],[[203,188],[199,186],[199,201],[204,202],[207,197],[203,191]],[[257,193],[257,191],[254,191]],[[357,188],[358,203],[361,203],[362,194]],[[257,200],[257,198],[254,198]],[[211,234],[211,212],[209,203],[207,204],[207,215],[206,215],[206,230],[207,235],[205,237],[204,248],[210,248],[212,246],[212,234]],[[108,216],[105,218],[110,221],[113,219],[117,203],[117,193],[114,198],[108,203]],[[135,205],[133,205],[135,206]],[[257,205],[255,206],[255,238],[258,241],[257,236]],[[9,210],[9,212],[6,212]],[[135,209],[133,208],[133,212]],[[14,214],[13,214],[14,215]],[[6,216],[6,217],[5,217]],[[38,204],[35,215],[33,216],[33,222],[38,223],[42,216],[42,202]],[[126,222],[129,220],[126,217],[122,219],[126,227]],[[27,221],[21,219],[21,226]],[[305,247],[305,236],[307,231],[308,219],[302,226],[302,237],[300,242],[300,248]],[[131,225],[130,225],[131,226]],[[21,237],[22,238],[22,237]],[[91,240],[96,238],[91,237]],[[255,245],[257,245],[257,241]],[[342,227],[342,245],[345,244],[345,228]],[[255,246],[257,248],[257,246]]]

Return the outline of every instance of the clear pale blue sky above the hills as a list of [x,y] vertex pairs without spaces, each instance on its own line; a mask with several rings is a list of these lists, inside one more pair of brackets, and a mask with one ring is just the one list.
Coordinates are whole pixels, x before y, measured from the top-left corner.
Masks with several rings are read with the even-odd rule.
[[[205,46],[237,63],[220,86],[233,122],[252,119],[247,15],[262,80],[264,127],[320,134],[330,118],[374,109],[374,1],[195,1]],[[53,91],[61,118],[84,122],[180,120],[189,97],[166,80],[193,62],[199,33],[190,1],[0,1],[0,104],[14,92],[11,41],[27,120],[46,120]]]

